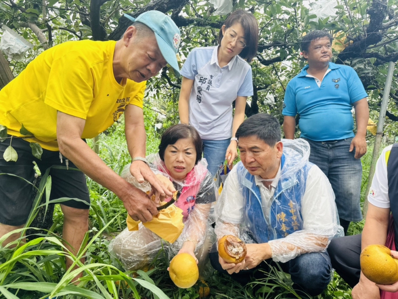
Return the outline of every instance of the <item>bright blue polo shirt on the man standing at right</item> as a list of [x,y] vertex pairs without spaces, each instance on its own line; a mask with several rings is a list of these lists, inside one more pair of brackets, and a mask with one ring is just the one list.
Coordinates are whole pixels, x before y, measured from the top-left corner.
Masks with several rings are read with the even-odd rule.
[[308,65],[287,85],[282,114],[300,115],[301,137],[313,141],[354,137],[353,103],[367,97],[355,70],[329,63],[322,82],[307,74]]

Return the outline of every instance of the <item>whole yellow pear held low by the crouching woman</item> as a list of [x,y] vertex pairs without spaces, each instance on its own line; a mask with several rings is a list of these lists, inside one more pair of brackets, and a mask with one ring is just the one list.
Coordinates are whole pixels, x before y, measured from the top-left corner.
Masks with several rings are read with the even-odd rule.
[[179,288],[190,288],[199,278],[198,265],[190,254],[177,254],[170,262],[169,275]]

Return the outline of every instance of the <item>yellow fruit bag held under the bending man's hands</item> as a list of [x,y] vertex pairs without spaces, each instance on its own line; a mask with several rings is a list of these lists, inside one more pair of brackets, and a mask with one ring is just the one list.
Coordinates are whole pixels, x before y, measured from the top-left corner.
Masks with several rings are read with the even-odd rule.
[[[126,222],[129,231],[137,231],[138,224],[141,221],[134,221],[127,215]],[[174,243],[184,229],[183,210],[171,205],[166,209],[161,209],[157,215],[153,216],[151,221],[145,222],[143,225],[160,238]]]

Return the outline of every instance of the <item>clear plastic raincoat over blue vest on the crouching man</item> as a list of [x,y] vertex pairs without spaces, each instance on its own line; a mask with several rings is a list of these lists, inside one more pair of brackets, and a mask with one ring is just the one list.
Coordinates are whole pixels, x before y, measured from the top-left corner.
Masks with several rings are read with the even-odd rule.
[[[215,205],[217,239],[234,235],[245,243],[269,243],[272,259],[285,263],[307,252],[325,251],[338,225],[335,195],[326,176],[308,162],[304,139],[282,139],[275,179],[254,177],[239,162]],[[308,177],[311,177],[308,179]],[[308,181],[307,181],[308,180]],[[266,185],[271,185],[271,191]],[[307,191],[307,193],[306,193]],[[269,198],[264,195],[273,194]]]

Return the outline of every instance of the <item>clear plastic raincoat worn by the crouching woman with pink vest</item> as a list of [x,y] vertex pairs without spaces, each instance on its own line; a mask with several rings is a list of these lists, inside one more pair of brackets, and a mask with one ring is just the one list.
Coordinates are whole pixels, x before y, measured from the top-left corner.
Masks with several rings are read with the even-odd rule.
[[[195,255],[199,260],[200,269],[209,253],[211,238],[214,239],[213,228],[210,225],[214,223],[214,216],[210,210],[212,202],[215,201],[216,192],[214,179],[206,168],[207,162],[205,159],[199,161],[181,181],[169,176],[158,154],[148,156],[148,161],[155,174],[162,174],[171,179],[174,187],[179,191],[174,204],[183,209],[184,229],[174,243],[169,243],[140,223],[138,231],[129,231],[125,228],[113,239],[109,244],[109,252],[122,262],[125,269],[146,269],[162,247],[170,261],[179,252],[184,242],[190,240],[196,244]],[[123,169],[122,178],[144,192],[151,190],[148,182],[140,184],[131,176],[129,166]]]

